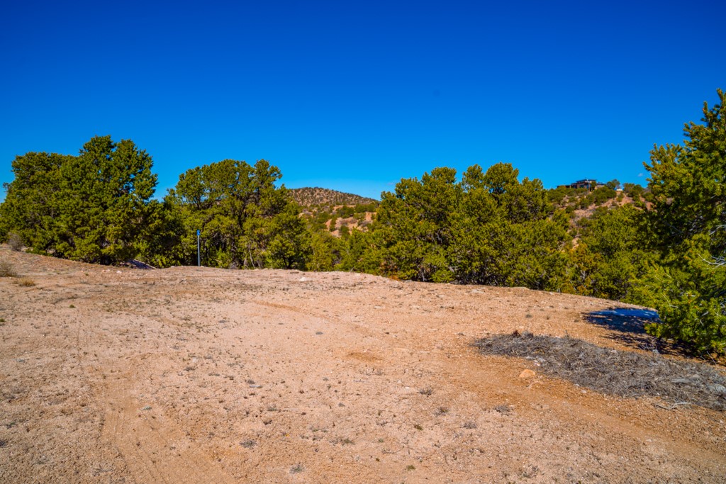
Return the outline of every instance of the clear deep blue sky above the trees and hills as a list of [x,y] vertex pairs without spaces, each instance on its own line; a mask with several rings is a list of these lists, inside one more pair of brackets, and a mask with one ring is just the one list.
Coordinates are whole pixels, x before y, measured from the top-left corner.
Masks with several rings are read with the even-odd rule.
[[722,0],[212,4],[4,4],[0,181],[110,134],[152,155],[158,195],[224,158],[372,197],[499,161],[645,184],[653,144],[726,89]]

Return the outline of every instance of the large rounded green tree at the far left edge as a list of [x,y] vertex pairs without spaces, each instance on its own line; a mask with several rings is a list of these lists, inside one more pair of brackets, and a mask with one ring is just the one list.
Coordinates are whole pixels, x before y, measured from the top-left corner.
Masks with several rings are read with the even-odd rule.
[[156,186],[152,158],[133,141],[96,136],[78,156],[30,152],[12,162],[0,230],[34,250],[76,261],[134,257]]

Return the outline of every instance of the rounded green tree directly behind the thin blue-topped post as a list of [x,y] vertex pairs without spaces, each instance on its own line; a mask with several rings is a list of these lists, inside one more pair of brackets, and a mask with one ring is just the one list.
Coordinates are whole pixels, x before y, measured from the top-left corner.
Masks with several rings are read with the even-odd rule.
[[196,260],[200,229],[205,265],[304,268],[306,226],[285,187],[275,186],[280,176],[266,160],[222,160],[182,173],[168,196],[184,224],[181,261]]

